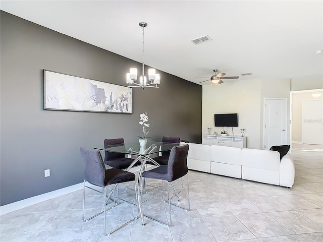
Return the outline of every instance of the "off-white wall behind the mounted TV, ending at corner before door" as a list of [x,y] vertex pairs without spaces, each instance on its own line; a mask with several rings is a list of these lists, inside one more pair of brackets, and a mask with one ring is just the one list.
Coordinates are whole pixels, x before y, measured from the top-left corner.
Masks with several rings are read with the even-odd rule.
[[[238,126],[233,128],[241,136],[244,128],[247,147],[259,148],[260,142],[260,82],[259,80],[226,80],[221,85],[203,85],[202,134],[207,127],[220,133],[222,128],[214,127],[214,113],[238,113]],[[232,135],[231,128],[228,131]]]

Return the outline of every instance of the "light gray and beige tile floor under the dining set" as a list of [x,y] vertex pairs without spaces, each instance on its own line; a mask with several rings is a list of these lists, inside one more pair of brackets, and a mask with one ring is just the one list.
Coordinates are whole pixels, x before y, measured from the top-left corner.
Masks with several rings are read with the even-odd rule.
[[[253,181],[190,171],[191,210],[172,208],[173,226],[150,220],[103,235],[103,215],[82,221],[82,190],[0,217],[2,242],[99,241],[323,241],[323,151],[293,144],[295,184],[282,188]],[[130,185],[131,186],[131,185]],[[122,190],[122,189],[121,189]],[[184,196],[185,193],[181,193]],[[123,196],[131,198],[131,193]],[[145,194],[148,196],[148,194]],[[185,199],[181,201],[187,206]],[[101,197],[90,192],[86,213],[100,211]],[[143,205],[147,215],[166,219],[159,198]],[[137,214],[121,203],[107,212],[107,229]],[[107,231],[110,231],[107,230]]]

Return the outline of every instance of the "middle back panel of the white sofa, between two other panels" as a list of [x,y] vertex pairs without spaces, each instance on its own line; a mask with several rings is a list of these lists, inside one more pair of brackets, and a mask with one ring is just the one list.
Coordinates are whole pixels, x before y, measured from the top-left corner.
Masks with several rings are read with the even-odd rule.
[[211,161],[231,164],[231,165],[241,165],[241,149],[237,147],[221,146],[221,145],[211,145]]

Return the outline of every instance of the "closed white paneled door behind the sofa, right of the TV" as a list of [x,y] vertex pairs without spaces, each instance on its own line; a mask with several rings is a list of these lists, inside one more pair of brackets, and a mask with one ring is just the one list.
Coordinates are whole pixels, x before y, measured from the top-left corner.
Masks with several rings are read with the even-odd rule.
[[264,149],[286,145],[287,99],[264,99]]

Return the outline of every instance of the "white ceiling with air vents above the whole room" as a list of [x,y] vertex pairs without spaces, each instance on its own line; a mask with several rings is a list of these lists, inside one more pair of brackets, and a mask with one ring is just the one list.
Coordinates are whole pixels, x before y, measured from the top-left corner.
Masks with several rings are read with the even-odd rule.
[[[213,69],[323,80],[323,1],[1,1],[0,9],[191,82]],[[195,45],[191,39],[213,40]],[[129,67],[130,68],[130,67]],[[251,72],[252,76],[241,76]],[[161,82],[163,77],[161,76]],[[204,82],[203,84],[209,84]],[[223,85],[223,84],[222,84]]]

